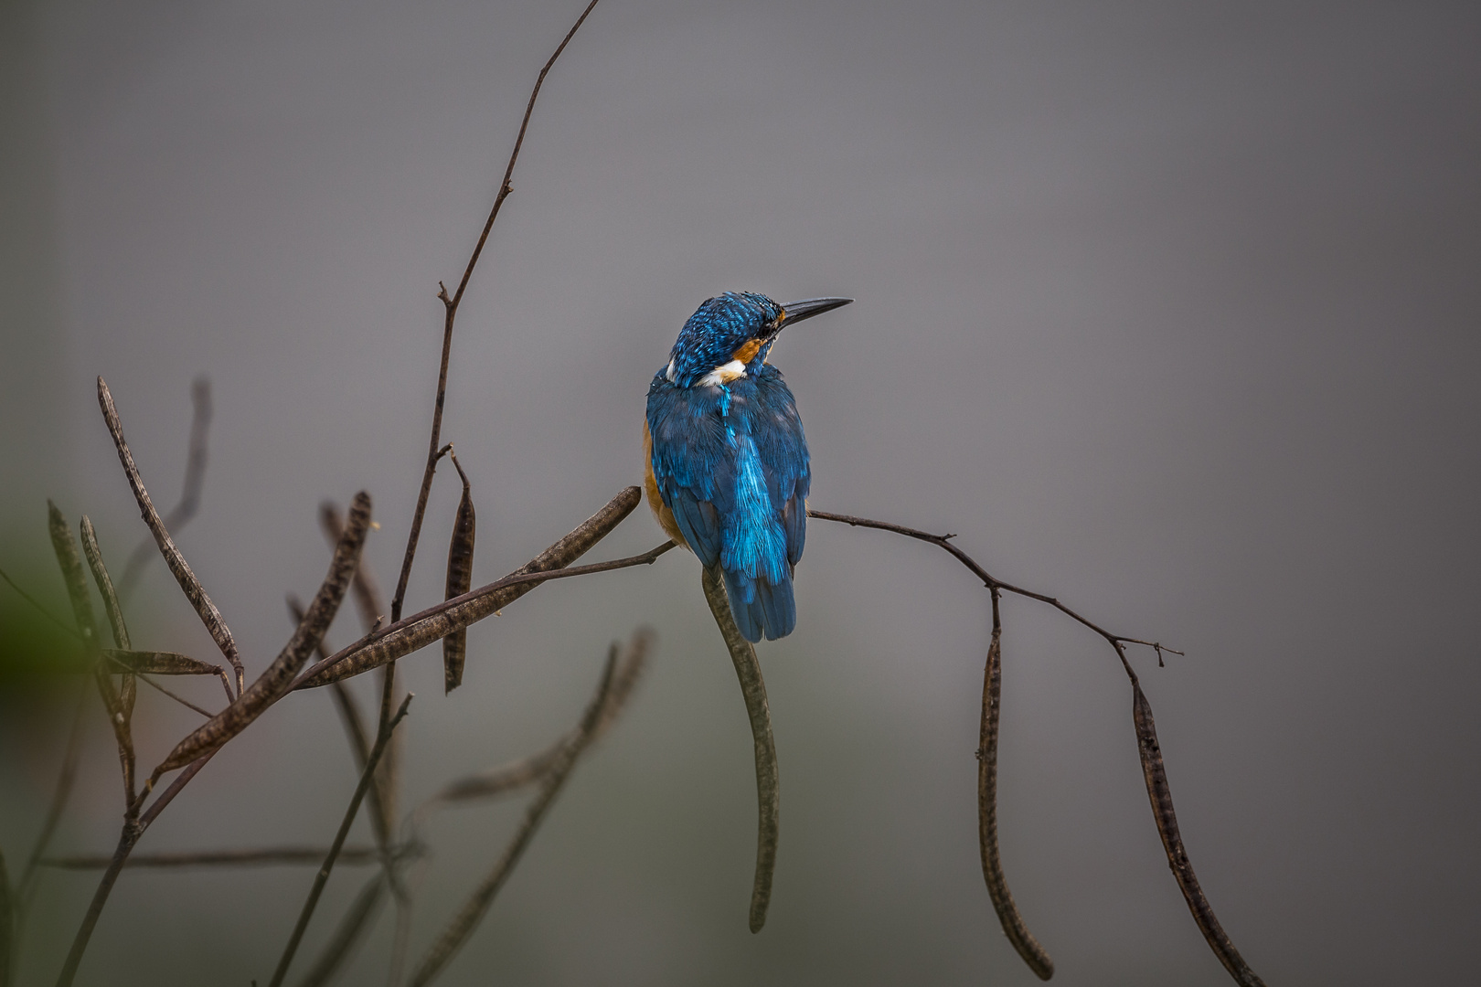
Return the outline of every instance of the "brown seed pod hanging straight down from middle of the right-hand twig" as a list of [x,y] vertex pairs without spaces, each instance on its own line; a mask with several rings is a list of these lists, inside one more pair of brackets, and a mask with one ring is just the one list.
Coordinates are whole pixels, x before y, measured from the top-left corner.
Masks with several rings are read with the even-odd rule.
[[992,644],[982,676],[982,731],[977,747],[977,843],[982,851],[982,876],[988,897],[1003,923],[1003,934],[1040,980],[1054,975],[1054,960],[1028,931],[1019,914],[998,852],[998,718],[1003,700],[1003,619],[998,616],[998,590],[992,590]]

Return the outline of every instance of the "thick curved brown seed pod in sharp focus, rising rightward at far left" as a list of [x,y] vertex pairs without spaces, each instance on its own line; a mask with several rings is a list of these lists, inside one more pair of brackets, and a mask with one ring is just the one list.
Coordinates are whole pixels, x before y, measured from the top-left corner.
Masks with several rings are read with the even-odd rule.
[[350,506],[350,519],[345,531],[335,548],[335,558],[329,564],[329,574],[324,577],[314,602],[308,605],[308,613],[299,621],[298,629],[287,645],[274,658],[258,681],[247,688],[235,703],[221,710],[210,722],[203,724],[195,732],[175,746],[175,750],[160,762],[151,778],[157,780],[166,771],[184,768],[201,755],[210,753],[224,743],[247,728],[247,724],[262,715],[268,706],[275,703],[293,681],[293,675],[304,666],[308,656],[318,645],[320,638],[329,627],[339,604],[350,587],[355,565],[360,562],[360,550],[364,548],[366,531],[370,528],[370,494],[363,490],[355,494]]

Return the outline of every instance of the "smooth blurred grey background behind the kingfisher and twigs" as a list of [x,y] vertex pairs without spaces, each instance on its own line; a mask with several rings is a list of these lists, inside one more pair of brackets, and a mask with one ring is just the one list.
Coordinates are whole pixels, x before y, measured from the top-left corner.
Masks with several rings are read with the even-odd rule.
[[[7,571],[65,605],[47,496],[121,564],[144,527],[93,377],[169,505],[203,373],[212,459],[179,542],[249,670],[290,630],[284,592],[323,574],[320,499],[375,496],[367,558],[392,583],[437,281],[462,272],[578,10],[6,4]],[[475,583],[638,481],[647,380],[701,300],[850,294],[773,357],[813,506],[957,531],[1000,577],[1188,653],[1131,657],[1188,849],[1269,984],[1469,981],[1478,50],[1471,3],[598,4],[458,326],[443,434],[474,482]],[[440,598],[455,503],[449,471],[412,608]],[[592,558],[659,540],[640,509]],[[141,589],[136,642],[212,654],[158,559]],[[551,741],[607,642],[659,633],[628,716],[443,983],[1037,983],[977,864],[980,587],[929,546],[815,522],[797,592],[797,633],[761,648],[783,812],[755,937],[749,734],[692,556],[478,624],[452,697],[435,648],[403,661],[415,802]],[[1228,983],[1167,872],[1114,654],[1029,601],[1004,621],[1004,866],[1054,983]],[[357,633],[347,614],[332,641]],[[0,725],[12,869],[64,693],[10,697]],[[195,722],[158,700],[141,693],[145,762]],[[89,738],[64,852],[117,833],[101,722]],[[302,694],[141,852],[327,843],[352,786],[329,697]],[[413,956],[521,805],[432,824]],[[305,959],[366,873],[336,872]],[[265,983],[310,879],[127,872],[80,983]],[[93,883],[46,879],[22,983],[50,983]],[[381,983],[388,931],[345,983]]]

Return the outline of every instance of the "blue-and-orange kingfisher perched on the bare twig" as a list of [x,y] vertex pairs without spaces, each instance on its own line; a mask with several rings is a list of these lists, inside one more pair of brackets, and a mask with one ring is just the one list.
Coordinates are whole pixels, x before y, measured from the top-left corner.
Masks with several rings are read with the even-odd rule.
[[752,644],[797,626],[792,573],[812,482],[797,402],[766,358],[782,329],[852,300],[778,305],[751,292],[706,299],[649,385],[649,508],[675,545],[720,570],[736,627]]

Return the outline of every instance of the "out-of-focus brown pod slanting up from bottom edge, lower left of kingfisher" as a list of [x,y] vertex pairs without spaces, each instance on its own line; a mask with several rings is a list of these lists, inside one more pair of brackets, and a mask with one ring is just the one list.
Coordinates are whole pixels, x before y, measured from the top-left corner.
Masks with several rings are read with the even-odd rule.
[[[638,629],[632,639],[628,642],[628,653],[647,651],[652,647],[652,632],[647,629]],[[597,687],[597,694],[586,704],[586,710],[581,718],[581,725],[573,734],[566,738],[561,747],[557,762],[545,775],[545,781],[541,786],[539,793],[530,802],[529,808],[524,811],[524,821],[520,824],[518,832],[515,832],[514,839],[505,846],[504,854],[495,863],[493,870],[489,876],[483,879],[474,892],[464,903],[462,909],[453,916],[447,928],[443,929],[441,935],[432,943],[432,946],[422,956],[422,962],[418,965],[416,972],[412,974],[412,987],[427,987],[432,983],[443,969],[452,960],[453,954],[462,949],[464,943],[483,920],[483,916],[489,912],[489,906],[493,904],[495,895],[504,886],[514,866],[520,861],[520,855],[524,848],[529,846],[530,839],[535,836],[535,830],[539,829],[541,821],[545,818],[546,811],[549,811],[551,804],[560,793],[561,786],[566,778],[570,777],[572,768],[576,767],[576,761],[581,753],[591,743],[597,732],[597,727],[601,722],[603,712],[607,709],[607,695],[612,690],[613,673],[618,666],[618,645],[612,645],[612,651],[607,654],[607,663],[601,672],[601,682]]]

